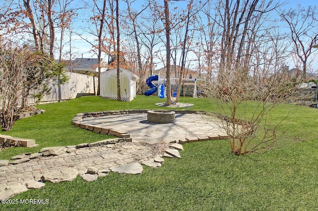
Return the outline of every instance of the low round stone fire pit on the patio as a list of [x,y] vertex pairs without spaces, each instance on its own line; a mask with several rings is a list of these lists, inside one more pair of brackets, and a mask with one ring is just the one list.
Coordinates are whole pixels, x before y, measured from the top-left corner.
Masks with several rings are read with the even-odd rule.
[[174,122],[174,111],[151,110],[147,111],[147,120],[152,123],[171,123]]

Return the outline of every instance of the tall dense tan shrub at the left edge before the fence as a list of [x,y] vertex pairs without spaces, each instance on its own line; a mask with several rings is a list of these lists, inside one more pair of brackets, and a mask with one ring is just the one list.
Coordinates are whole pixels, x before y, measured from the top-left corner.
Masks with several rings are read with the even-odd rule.
[[2,131],[12,128],[24,99],[31,89],[38,95],[48,93],[48,79],[61,76],[63,67],[28,46],[7,43],[0,45],[0,124]]

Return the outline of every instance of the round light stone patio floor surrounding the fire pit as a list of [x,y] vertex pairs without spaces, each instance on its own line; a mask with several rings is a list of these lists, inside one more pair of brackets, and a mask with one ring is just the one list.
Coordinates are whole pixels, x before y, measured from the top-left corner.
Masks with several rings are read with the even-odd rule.
[[221,134],[222,138],[226,138],[221,121],[200,114],[175,114],[175,121],[167,124],[148,122],[147,113],[86,117],[82,118],[80,124],[102,128],[104,134],[110,135],[110,132],[116,135],[115,128],[117,132],[129,134],[134,142],[195,142],[199,141],[198,137],[202,141],[208,140],[207,134]]

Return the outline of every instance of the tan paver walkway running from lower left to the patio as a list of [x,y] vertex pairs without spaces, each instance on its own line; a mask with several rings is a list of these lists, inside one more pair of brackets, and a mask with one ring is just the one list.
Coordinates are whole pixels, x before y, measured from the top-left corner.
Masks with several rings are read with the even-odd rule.
[[[84,179],[87,170],[96,168],[97,176],[106,176],[109,169],[125,164],[145,161],[154,162],[157,155],[161,157],[164,148],[169,144],[147,144],[120,142],[95,147],[77,147],[72,152],[67,152],[72,147],[59,148],[56,156],[40,156],[25,160],[22,163],[0,167],[0,199],[10,198],[18,193],[27,191],[28,188],[41,188],[42,182],[71,181],[78,175]],[[75,146],[74,146],[75,147]],[[58,147],[54,147],[58,148]],[[52,148],[52,149],[54,149]],[[25,159],[25,158],[22,158]],[[21,159],[18,159],[19,161]],[[27,162],[26,162],[27,161]],[[162,160],[161,160],[162,162]],[[141,169],[142,170],[142,169]],[[116,171],[116,170],[114,170]],[[124,173],[141,173],[133,170]]]

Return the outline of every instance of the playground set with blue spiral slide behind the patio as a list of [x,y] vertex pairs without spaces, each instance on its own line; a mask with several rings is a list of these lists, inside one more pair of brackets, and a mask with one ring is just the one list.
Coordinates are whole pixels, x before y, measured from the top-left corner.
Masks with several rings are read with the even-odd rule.
[[[172,78],[175,79],[175,78]],[[197,97],[197,86],[196,86],[196,78],[194,79],[194,91],[193,91],[193,97]],[[153,81],[158,81],[158,87]],[[151,75],[149,78],[146,79],[146,84],[150,87],[145,92],[146,96],[150,96],[158,90],[158,97],[159,98],[164,98],[166,97],[166,78],[159,78],[159,75]],[[172,92],[172,96],[176,97],[176,92]]]

